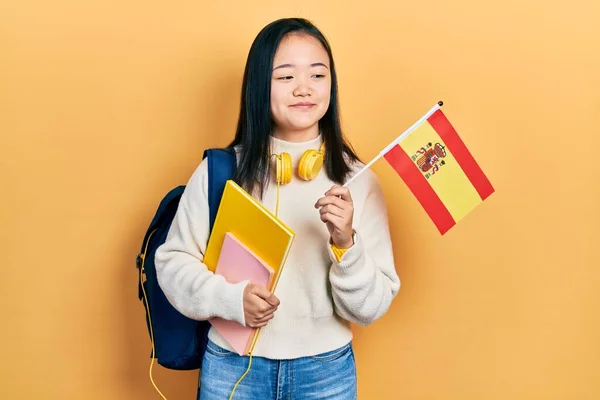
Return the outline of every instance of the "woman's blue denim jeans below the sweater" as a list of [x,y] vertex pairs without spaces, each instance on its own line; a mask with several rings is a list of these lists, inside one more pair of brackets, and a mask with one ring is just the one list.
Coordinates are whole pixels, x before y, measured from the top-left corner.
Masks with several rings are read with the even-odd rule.
[[[198,400],[228,400],[248,368],[239,356],[209,341],[204,354]],[[252,357],[234,400],[355,400],[356,365],[351,343],[312,357],[270,360]]]

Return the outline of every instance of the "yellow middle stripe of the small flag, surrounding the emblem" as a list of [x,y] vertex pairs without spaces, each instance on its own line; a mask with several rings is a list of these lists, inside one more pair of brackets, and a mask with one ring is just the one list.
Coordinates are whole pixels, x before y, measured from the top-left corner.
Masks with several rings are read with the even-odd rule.
[[[432,146],[435,146],[436,143],[446,146],[429,122],[425,121],[402,140],[399,145],[409,157],[412,157],[419,149],[426,147],[428,143],[431,143]],[[440,165],[438,162],[440,169],[430,176],[427,182],[444,203],[454,221],[458,222],[482,200],[447,147],[445,151],[446,156],[441,159],[444,160],[445,164]]]

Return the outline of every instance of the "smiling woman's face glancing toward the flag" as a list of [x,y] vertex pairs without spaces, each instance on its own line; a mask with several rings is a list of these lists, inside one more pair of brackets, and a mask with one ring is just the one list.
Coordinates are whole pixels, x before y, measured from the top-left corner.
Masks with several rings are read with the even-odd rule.
[[[271,116],[276,131],[287,137],[318,133],[319,120],[329,108],[329,56],[310,35],[289,34],[281,41],[271,78]],[[298,135],[295,135],[295,134]]]

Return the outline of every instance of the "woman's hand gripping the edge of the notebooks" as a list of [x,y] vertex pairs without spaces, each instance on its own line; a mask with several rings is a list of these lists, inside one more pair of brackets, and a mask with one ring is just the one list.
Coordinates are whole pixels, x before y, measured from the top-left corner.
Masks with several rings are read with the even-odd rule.
[[262,286],[249,283],[244,289],[244,318],[246,326],[262,328],[273,318],[279,299]]

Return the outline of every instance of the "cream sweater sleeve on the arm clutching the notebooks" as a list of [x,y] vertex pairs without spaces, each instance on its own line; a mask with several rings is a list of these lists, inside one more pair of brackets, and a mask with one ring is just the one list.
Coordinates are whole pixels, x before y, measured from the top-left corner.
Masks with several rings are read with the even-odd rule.
[[179,202],[167,239],[155,255],[158,283],[180,313],[195,320],[212,317],[244,321],[248,281],[230,284],[202,262],[209,238],[208,169],[203,160]]

